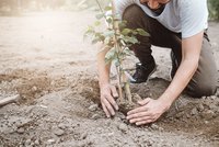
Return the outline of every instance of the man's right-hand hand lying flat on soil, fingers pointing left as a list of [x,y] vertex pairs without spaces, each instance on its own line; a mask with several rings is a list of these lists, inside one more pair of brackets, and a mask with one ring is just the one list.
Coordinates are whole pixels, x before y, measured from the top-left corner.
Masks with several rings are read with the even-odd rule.
[[170,104],[159,99],[153,100],[147,98],[138,103],[140,104],[139,108],[127,113],[127,120],[136,125],[143,125],[157,121],[170,108]]

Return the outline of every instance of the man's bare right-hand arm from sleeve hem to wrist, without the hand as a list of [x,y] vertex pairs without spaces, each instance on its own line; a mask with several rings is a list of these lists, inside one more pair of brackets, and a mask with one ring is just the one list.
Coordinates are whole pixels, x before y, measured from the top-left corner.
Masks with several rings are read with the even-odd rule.
[[203,32],[182,41],[182,63],[178,67],[173,81],[161,95],[165,102],[170,101],[170,104],[180,95],[180,93],[188,84],[193,75],[197,70],[201,43]]

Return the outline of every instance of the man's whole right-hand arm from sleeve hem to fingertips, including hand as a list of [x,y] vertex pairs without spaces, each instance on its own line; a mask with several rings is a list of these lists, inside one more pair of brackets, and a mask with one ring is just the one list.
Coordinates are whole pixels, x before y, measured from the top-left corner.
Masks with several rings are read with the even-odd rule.
[[201,31],[182,41],[182,61],[173,81],[158,100],[145,99],[139,102],[141,106],[128,112],[127,120],[130,123],[142,125],[154,122],[170,109],[173,101],[177,99],[197,70],[203,34]]

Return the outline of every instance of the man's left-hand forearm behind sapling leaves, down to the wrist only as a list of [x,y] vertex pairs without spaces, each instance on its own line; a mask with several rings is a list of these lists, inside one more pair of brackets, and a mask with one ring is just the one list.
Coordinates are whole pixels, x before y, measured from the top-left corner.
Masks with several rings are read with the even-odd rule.
[[99,71],[99,84],[100,86],[103,86],[105,83],[110,83],[111,64],[106,65],[106,63],[105,63],[106,53],[107,53],[107,48],[102,49],[97,54],[97,71]]

